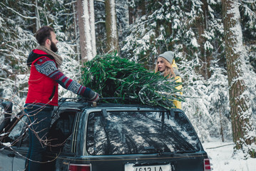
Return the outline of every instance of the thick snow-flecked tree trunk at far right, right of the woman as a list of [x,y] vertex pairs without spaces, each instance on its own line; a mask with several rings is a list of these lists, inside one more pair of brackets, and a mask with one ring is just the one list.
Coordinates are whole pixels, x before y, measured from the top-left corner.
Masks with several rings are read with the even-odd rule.
[[242,44],[242,27],[238,1],[222,0],[222,18],[225,32],[225,56],[227,61],[227,78],[230,93],[230,115],[232,121],[233,141],[236,150],[242,150],[245,157],[255,157],[255,150],[250,145],[255,143],[252,126],[252,109],[246,94],[244,81],[245,47]]

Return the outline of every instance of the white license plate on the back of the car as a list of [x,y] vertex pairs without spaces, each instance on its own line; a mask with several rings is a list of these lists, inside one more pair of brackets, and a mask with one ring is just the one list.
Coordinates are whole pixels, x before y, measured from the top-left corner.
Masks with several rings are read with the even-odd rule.
[[148,166],[134,166],[133,164],[126,164],[125,171],[171,171],[169,165],[148,165]]

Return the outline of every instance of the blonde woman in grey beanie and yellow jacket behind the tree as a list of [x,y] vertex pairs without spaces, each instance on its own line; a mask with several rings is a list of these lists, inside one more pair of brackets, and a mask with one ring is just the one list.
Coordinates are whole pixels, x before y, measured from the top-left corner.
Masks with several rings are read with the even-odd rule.
[[[160,73],[167,78],[175,78],[175,81],[181,83],[180,73],[174,60],[174,53],[172,51],[166,51],[158,56],[158,61],[155,63],[155,73]],[[181,85],[176,87],[178,90],[183,88]],[[180,94],[182,94],[180,92]],[[181,109],[181,102],[173,100],[173,104],[176,108]]]

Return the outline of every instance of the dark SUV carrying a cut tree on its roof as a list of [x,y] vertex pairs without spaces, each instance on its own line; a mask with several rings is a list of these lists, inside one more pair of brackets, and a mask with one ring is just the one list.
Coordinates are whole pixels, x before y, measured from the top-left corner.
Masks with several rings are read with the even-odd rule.
[[[24,170],[27,127],[23,113],[4,119],[0,171]],[[210,170],[183,110],[148,105],[62,99],[53,113],[46,156],[46,170]]]

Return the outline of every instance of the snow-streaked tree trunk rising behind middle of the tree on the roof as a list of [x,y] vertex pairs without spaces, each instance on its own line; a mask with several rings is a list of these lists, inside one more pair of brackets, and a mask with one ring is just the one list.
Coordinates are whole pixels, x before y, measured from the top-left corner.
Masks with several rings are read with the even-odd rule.
[[118,31],[116,26],[116,4],[115,0],[105,1],[106,10],[106,32],[107,32],[107,51],[118,51]]

